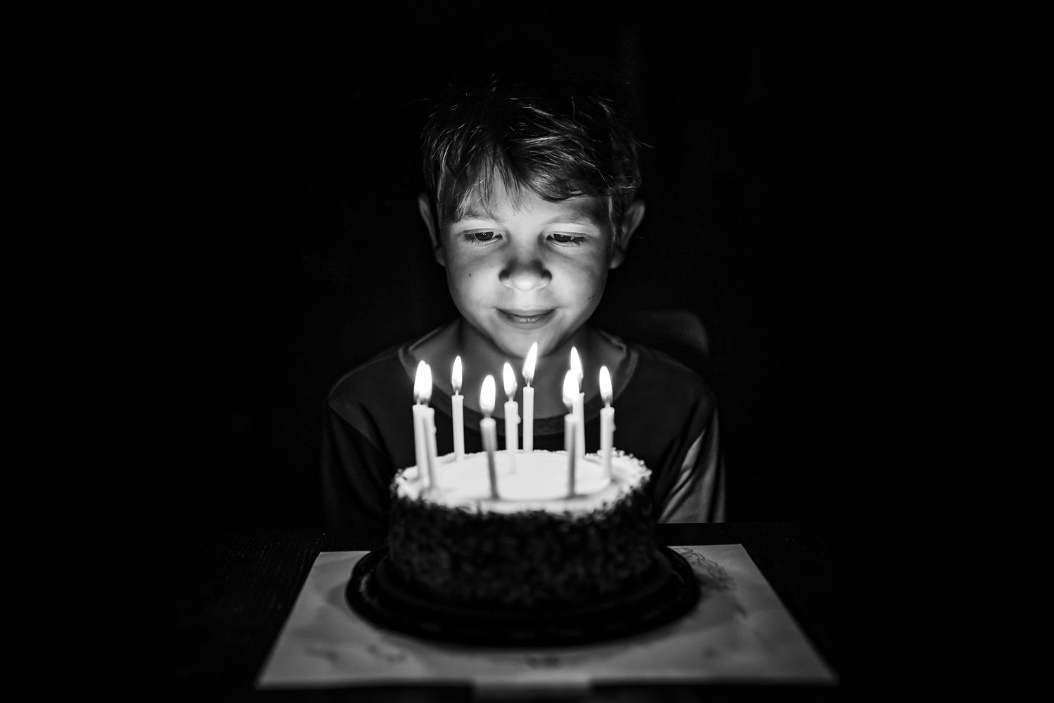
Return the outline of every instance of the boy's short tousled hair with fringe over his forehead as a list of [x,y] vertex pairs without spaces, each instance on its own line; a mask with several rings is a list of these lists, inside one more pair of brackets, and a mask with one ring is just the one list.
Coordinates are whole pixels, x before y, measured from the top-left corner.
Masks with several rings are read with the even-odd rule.
[[552,202],[598,196],[621,232],[641,184],[639,147],[596,85],[545,65],[497,69],[448,90],[422,133],[437,223],[456,221],[476,198],[489,208],[500,181],[513,201],[524,188]]

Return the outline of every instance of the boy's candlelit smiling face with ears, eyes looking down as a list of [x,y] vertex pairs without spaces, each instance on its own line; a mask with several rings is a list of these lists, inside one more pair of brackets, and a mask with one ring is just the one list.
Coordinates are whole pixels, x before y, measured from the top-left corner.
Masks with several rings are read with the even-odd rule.
[[616,242],[600,198],[549,202],[526,189],[429,230],[462,316],[518,358],[535,341],[543,356],[559,349],[589,319],[631,233]]

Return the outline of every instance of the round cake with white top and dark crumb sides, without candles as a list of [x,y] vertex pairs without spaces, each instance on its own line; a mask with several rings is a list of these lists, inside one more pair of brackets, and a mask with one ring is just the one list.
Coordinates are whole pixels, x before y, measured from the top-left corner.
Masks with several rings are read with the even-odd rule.
[[649,470],[614,451],[441,456],[434,482],[417,467],[392,483],[388,559],[407,587],[452,605],[560,609],[632,591],[662,568],[645,487]]

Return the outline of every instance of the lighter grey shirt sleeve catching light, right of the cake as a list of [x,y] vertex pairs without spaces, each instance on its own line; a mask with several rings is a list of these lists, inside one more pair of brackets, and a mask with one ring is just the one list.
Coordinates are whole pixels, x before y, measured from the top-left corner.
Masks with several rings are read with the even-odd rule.
[[718,441],[718,414],[685,452],[672,481],[660,488],[656,503],[660,523],[723,523],[725,521],[725,467]]

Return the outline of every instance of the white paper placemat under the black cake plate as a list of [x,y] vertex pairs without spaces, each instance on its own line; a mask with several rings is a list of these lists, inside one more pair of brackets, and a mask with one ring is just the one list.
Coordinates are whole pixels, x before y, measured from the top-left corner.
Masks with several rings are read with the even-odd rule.
[[629,638],[530,649],[444,644],[380,629],[345,600],[352,566],[367,552],[321,552],[257,687],[468,684],[501,696],[568,694],[593,684],[837,682],[742,545],[671,549],[702,584],[691,612]]

